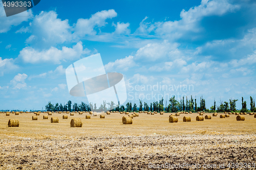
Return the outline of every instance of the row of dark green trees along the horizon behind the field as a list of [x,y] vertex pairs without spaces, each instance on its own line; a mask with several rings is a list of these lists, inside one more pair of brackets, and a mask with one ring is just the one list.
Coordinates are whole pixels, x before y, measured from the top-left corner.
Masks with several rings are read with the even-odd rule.
[[[229,99],[229,102],[223,102],[220,99],[220,105],[216,105],[216,101],[214,100],[214,104],[210,107],[210,109],[206,108],[206,102],[205,99],[203,99],[203,96],[200,97],[199,106],[197,105],[197,99],[193,99],[193,96],[190,96],[190,99],[183,98],[179,101],[175,99],[175,96],[173,98],[169,99],[169,104],[167,105],[167,101],[165,102],[165,108],[164,108],[164,100],[163,98],[156,102],[151,102],[149,105],[146,102],[142,102],[142,100],[139,100],[139,107],[137,107],[137,104],[134,103],[132,105],[131,102],[126,103],[126,108],[123,105],[119,105],[119,103],[116,105],[114,102],[106,103],[103,101],[103,104],[100,105],[99,108],[97,108],[96,104],[86,104],[81,102],[81,104],[74,103],[72,105],[71,101],[68,101],[67,104],[62,105],[61,103],[56,103],[55,105],[49,102],[46,105],[47,111],[127,111],[127,112],[136,112],[136,111],[165,111],[165,112],[177,112],[177,111],[191,111],[191,112],[197,112],[197,111],[206,111],[206,112],[235,112],[236,109],[236,103],[238,100],[236,99]],[[108,107],[107,107],[108,106]],[[244,101],[242,97],[242,109],[241,112],[248,112],[246,101]],[[255,101],[250,96],[250,111],[256,112],[255,108]]]

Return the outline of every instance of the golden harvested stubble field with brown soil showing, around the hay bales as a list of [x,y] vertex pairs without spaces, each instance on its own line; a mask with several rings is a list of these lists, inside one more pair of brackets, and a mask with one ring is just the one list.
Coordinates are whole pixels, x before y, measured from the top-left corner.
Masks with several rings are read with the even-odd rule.
[[[68,119],[62,119],[63,114]],[[253,115],[237,121],[236,115],[218,114],[197,122],[197,113],[181,114],[178,123],[169,123],[170,113],[140,113],[132,125],[123,125],[124,114],[85,119],[88,114],[53,113],[42,119],[47,114],[40,113],[38,120],[32,120],[33,113],[0,114],[0,169],[256,168]],[[183,116],[190,116],[191,122],[182,122]],[[59,123],[51,124],[51,117],[58,117]],[[73,117],[82,118],[82,128],[70,128]],[[19,119],[19,127],[8,128],[12,118]]]

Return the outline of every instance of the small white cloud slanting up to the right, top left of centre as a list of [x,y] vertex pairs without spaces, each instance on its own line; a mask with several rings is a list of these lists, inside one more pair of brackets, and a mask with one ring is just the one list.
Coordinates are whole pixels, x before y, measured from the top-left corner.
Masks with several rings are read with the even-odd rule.
[[91,16],[89,19],[80,18],[77,20],[75,25],[75,37],[84,37],[85,35],[96,35],[96,31],[94,28],[97,26],[98,28],[104,27],[107,22],[105,22],[108,18],[116,17],[117,13],[115,10],[104,10],[97,12]]

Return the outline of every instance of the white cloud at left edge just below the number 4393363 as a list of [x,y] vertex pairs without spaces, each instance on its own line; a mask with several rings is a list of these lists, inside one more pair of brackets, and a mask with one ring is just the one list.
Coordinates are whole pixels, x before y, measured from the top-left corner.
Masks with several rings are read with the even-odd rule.
[[24,21],[28,21],[33,17],[32,10],[24,11],[15,16],[6,17],[4,6],[0,6],[0,33],[8,32],[12,26],[18,26]]

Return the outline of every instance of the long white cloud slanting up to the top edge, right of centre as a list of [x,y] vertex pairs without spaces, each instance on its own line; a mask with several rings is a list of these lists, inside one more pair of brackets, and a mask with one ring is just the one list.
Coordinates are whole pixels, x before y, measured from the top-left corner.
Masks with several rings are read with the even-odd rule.
[[[229,4],[228,1],[202,0],[199,6],[191,7],[188,11],[183,9],[180,13],[180,20],[151,23],[145,22],[145,19],[147,19],[145,17],[140,23],[140,27],[136,30],[136,33],[148,34],[154,31],[156,35],[162,36],[165,39],[177,39],[183,36],[188,38],[188,32],[200,33],[203,30],[199,24],[202,18],[207,16],[222,16],[238,9],[240,9],[239,5]],[[195,34],[191,35],[194,38],[197,36]]]

